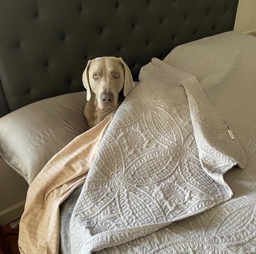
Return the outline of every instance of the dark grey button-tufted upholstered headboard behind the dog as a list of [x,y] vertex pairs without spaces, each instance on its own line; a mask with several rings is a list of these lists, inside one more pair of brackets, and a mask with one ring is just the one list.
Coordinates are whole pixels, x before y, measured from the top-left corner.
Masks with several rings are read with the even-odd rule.
[[233,29],[238,0],[1,0],[0,116],[83,91],[88,59],[123,57],[134,80],[152,57]]

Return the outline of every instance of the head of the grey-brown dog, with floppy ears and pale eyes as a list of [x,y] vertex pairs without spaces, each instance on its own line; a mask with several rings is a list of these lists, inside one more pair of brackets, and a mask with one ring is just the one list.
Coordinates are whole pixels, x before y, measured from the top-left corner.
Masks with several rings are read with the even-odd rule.
[[87,101],[92,91],[96,95],[98,108],[106,111],[118,107],[118,94],[123,88],[124,96],[132,91],[133,80],[121,57],[98,57],[88,61],[83,72],[83,85],[87,90]]

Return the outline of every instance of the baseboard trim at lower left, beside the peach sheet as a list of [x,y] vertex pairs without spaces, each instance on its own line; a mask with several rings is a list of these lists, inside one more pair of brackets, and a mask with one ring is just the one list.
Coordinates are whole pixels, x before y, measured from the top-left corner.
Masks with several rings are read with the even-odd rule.
[[6,225],[16,219],[20,218],[23,214],[25,206],[25,200],[6,208],[5,210],[0,211],[0,224]]

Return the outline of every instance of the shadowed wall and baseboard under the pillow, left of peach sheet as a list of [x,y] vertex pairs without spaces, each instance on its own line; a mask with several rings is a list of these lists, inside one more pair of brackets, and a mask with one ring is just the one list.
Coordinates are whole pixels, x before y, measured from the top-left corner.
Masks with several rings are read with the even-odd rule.
[[18,219],[23,212],[28,184],[0,159],[0,224]]

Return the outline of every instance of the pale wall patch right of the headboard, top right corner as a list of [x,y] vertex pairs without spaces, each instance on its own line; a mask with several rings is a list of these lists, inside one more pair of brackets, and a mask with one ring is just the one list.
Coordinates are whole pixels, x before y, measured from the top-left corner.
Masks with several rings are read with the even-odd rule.
[[234,30],[256,32],[256,0],[239,0]]

